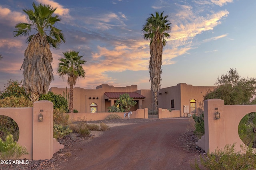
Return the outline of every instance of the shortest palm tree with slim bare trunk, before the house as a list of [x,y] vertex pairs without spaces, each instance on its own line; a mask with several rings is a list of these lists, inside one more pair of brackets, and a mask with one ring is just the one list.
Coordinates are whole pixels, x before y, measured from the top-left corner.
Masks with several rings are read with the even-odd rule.
[[73,87],[76,84],[76,80],[85,77],[85,71],[82,67],[82,64],[85,64],[86,61],[82,59],[83,56],[78,56],[79,52],[76,51],[67,51],[62,53],[64,58],[59,59],[57,73],[59,76],[64,79],[65,75],[68,75],[68,84],[70,85],[69,89],[69,111],[73,113]]

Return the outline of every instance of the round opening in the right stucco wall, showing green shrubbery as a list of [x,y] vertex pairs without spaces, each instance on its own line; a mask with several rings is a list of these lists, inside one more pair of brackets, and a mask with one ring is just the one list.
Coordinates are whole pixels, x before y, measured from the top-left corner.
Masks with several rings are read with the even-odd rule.
[[241,119],[238,135],[245,145],[256,148],[256,112],[248,113]]

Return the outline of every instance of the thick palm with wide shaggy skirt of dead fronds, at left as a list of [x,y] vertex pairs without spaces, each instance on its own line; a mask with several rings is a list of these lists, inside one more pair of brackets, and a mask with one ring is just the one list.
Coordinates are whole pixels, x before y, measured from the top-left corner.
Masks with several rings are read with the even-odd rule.
[[[18,23],[15,26],[14,37],[28,36],[28,47],[24,52],[23,68],[24,88],[30,99],[38,101],[40,94],[46,94],[50,82],[54,79],[52,70],[52,53],[50,47],[59,49],[64,42],[60,29],[54,27],[60,21],[58,15],[53,16],[56,8],[49,5],[33,3],[33,10],[26,10],[29,23]],[[34,33],[30,35],[30,32]],[[20,68],[20,69],[21,69]]]

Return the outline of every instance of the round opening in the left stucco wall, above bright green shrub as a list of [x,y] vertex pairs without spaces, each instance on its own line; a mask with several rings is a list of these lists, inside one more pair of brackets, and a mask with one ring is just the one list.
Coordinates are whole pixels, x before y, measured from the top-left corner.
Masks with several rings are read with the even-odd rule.
[[14,119],[0,115],[0,138],[5,141],[8,135],[12,135],[14,141],[17,142],[20,136],[20,129]]

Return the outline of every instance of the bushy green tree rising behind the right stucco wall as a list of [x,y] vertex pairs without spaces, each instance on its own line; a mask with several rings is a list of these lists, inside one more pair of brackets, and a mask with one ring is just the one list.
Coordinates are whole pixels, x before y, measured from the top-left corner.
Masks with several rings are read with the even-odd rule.
[[207,92],[204,100],[217,98],[225,105],[251,104],[256,95],[256,79],[241,78],[236,69],[230,68],[228,74],[218,77],[216,88]]

